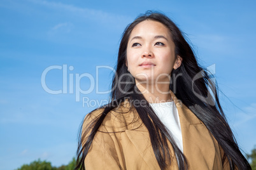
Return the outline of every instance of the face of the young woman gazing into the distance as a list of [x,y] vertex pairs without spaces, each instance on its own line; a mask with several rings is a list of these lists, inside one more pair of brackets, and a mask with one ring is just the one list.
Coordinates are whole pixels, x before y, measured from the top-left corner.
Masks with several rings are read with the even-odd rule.
[[169,82],[176,62],[174,47],[171,34],[162,23],[138,23],[129,37],[126,62],[136,82]]

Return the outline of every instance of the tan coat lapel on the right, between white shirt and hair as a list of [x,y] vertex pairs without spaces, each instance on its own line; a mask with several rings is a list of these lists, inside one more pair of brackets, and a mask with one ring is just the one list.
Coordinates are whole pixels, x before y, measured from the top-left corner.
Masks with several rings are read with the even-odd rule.
[[[220,165],[216,155],[219,154],[218,143],[206,126],[170,91],[173,101],[178,108],[183,154],[188,160],[190,169],[215,169],[214,164]],[[220,167],[216,167],[220,169]]]

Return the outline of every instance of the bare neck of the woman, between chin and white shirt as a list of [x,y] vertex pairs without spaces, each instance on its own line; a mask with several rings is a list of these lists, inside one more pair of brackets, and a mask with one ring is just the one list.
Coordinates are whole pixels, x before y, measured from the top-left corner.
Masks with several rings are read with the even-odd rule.
[[136,82],[136,86],[148,103],[173,101],[169,92],[169,84],[141,84]]

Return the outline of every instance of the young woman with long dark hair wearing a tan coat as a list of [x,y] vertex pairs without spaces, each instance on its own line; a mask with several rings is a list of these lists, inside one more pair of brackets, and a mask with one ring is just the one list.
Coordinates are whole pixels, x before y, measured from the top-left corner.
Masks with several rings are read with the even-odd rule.
[[76,169],[251,169],[215,84],[167,16],[127,26],[111,97],[85,117]]

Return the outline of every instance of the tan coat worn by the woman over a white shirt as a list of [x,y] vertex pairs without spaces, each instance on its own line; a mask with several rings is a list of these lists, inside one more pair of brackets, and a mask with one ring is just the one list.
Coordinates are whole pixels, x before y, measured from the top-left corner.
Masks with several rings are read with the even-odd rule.
[[[170,93],[178,108],[183,154],[190,169],[229,169],[222,167],[220,147],[206,126]],[[87,116],[85,124],[102,112],[101,109],[94,111]],[[148,130],[138,119],[136,110],[130,110],[128,101],[106,115],[99,131],[85,158],[85,169],[160,169]],[[170,143],[169,146],[174,157]],[[176,159],[167,169],[178,169]]]

